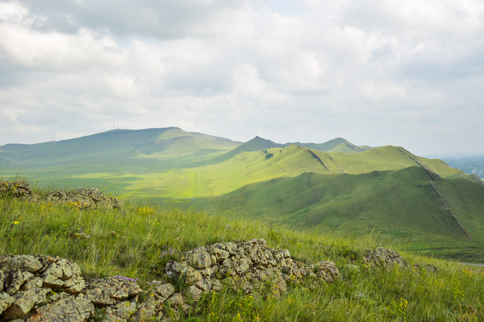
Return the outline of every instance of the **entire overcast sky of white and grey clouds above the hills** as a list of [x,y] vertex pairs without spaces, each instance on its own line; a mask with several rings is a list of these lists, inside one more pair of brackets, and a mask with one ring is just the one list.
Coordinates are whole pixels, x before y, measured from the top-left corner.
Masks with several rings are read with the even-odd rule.
[[0,0],[0,145],[113,121],[484,152],[484,1]]

